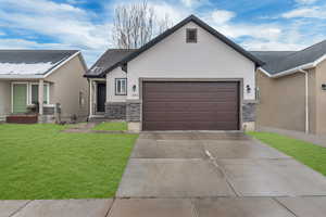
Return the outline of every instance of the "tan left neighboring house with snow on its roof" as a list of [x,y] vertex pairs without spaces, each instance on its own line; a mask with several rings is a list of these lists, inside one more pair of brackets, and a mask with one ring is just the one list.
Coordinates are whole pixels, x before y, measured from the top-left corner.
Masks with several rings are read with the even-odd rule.
[[87,66],[76,50],[0,50],[0,116],[26,114],[35,106],[39,122],[88,115]]

